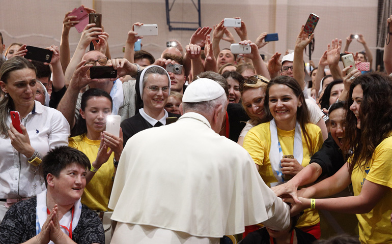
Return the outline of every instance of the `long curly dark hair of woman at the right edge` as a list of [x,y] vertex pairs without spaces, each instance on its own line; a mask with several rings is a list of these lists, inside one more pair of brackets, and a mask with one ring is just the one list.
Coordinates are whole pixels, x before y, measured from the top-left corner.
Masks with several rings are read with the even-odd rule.
[[363,99],[360,104],[360,127],[353,112],[346,114],[344,144],[352,147],[354,154],[350,164],[350,172],[360,167],[365,169],[372,159],[378,144],[392,131],[392,80],[382,73],[370,73],[357,77],[350,86],[347,98],[347,110],[353,104],[352,93],[355,86],[360,85]]

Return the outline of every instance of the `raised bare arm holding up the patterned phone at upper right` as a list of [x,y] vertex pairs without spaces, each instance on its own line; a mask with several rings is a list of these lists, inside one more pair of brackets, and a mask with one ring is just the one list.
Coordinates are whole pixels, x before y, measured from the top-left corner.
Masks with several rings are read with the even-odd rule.
[[309,35],[304,32],[304,25],[302,25],[301,31],[299,32],[297,40],[295,41],[293,76],[297,80],[298,84],[301,86],[302,90],[306,88],[304,72],[305,67],[303,66],[303,50],[312,41],[314,36],[315,34],[313,33],[309,37]]

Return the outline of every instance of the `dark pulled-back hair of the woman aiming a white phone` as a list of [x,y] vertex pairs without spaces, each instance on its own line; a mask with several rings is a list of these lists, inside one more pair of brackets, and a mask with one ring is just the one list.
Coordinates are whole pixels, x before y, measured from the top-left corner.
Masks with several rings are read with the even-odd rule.
[[[80,109],[82,111],[85,111],[87,102],[93,97],[105,97],[109,99],[113,109],[113,100],[111,99],[108,93],[106,93],[104,90],[101,89],[91,88],[86,90],[86,92],[83,93],[83,95],[81,96]],[[74,135],[80,136],[80,140],[82,140],[83,137],[86,136],[87,133],[86,119],[82,118],[80,113],[73,131],[74,131]]]

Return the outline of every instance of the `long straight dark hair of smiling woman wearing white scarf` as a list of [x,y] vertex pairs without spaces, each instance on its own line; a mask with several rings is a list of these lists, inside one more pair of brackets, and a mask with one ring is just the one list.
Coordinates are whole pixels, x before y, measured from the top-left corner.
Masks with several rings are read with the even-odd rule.
[[282,84],[288,86],[290,89],[293,90],[293,93],[295,96],[297,96],[298,100],[301,101],[302,105],[297,109],[297,117],[296,120],[298,121],[302,133],[304,135],[306,145],[309,148],[311,154],[313,153],[314,150],[314,145],[312,143],[311,137],[307,133],[305,129],[305,125],[309,123],[309,109],[306,106],[305,98],[303,97],[303,93],[301,90],[301,87],[299,86],[298,82],[290,76],[278,76],[273,78],[272,80],[269,81],[267,85],[267,90],[265,91],[265,99],[264,99],[264,110],[265,110],[265,118],[262,120],[262,123],[271,121],[273,119],[273,116],[271,114],[271,111],[269,110],[269,89],[273,85],[277,84]]

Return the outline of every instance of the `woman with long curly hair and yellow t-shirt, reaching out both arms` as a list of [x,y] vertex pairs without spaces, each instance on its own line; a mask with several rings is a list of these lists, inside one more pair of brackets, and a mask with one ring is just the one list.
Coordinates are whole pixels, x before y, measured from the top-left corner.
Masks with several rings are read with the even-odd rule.
[[[357,77],[350,86],[345,144],[353,155],[337,173],[298,191],[303,208],[356,214],[362,243],[392,243],[392,81],[381,73]],[[349,184],[354,196],[322,198]]]

